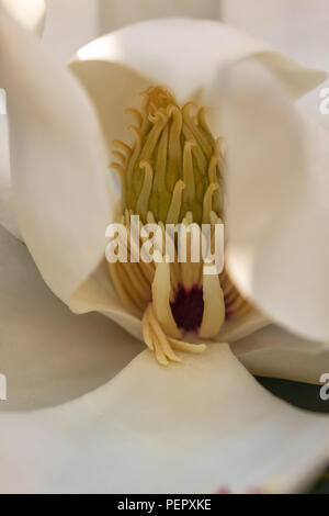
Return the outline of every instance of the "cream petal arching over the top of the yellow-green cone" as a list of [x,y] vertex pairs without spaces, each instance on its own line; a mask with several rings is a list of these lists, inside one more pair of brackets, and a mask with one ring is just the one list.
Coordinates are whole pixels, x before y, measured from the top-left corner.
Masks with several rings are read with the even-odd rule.
[[70,68],[90,93],[110,146],[112,139],[129,138],[124,110],[138,106],[138,93],[150,83],[170,88],[184,102],[219,69],[250,55],[257,55],[293,98],[327,77],[228,25],[188,19],[151,20],[121,29],[81,48]]

